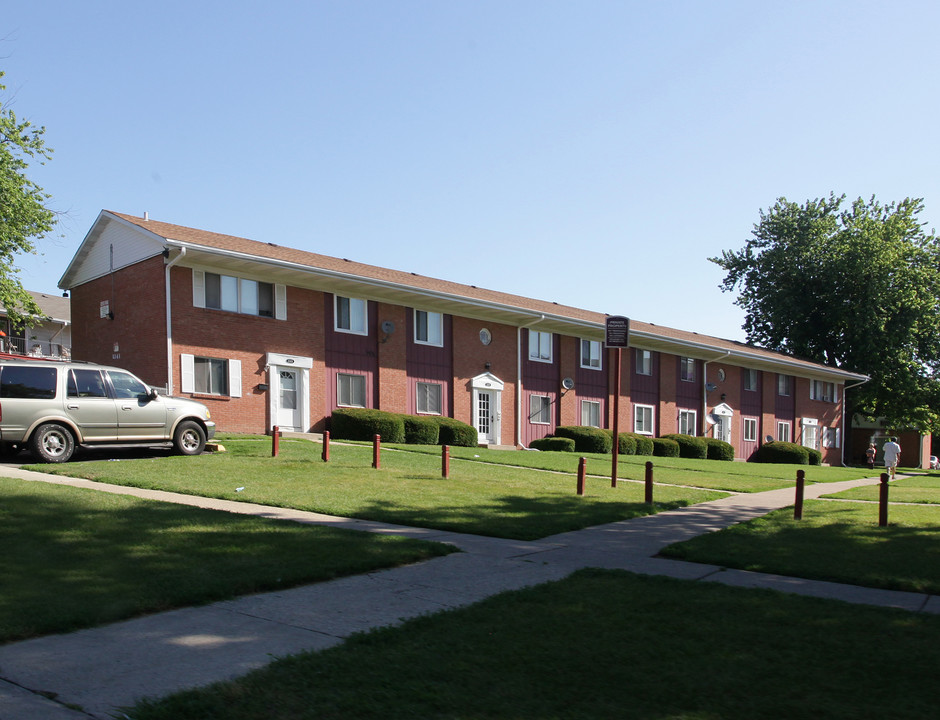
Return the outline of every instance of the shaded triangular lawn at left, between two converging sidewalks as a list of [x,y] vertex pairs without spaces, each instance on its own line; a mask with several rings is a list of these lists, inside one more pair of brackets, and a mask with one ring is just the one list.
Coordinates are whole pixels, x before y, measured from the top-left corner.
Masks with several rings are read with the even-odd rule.
[[0,642],[453,550],[2,477],[0,547]]

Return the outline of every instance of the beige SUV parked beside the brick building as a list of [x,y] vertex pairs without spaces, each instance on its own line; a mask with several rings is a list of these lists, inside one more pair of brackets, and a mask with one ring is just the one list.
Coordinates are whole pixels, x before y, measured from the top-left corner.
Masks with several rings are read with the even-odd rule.
[[160,395],[127,370],[0,358],[0,452],[66,462],[77,446],[172,444],[198,455],[215,435],[205,405]]

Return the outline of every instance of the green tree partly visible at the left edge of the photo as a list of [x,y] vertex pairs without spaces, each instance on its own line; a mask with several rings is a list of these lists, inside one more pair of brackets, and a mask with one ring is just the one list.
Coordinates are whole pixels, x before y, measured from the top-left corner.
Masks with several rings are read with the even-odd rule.
[[[0,80],[4,73],[0,71]],[[6,86],[0,84],[0,92]],[[36,252],[36,241],[55,226],[55,213],[46,207],[49,196],[26,177],[31,159],[40,164],[52,157],[43,135],[45,127],[20,120],[0,97],[0,305],[15,326],[31,327],[41,311],[19,279],[15,257]]]

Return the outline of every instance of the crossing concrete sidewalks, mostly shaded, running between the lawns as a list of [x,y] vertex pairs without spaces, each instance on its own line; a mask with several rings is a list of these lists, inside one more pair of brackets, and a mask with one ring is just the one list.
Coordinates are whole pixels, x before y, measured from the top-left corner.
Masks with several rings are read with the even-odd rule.
[[[847,602],[940,612],[940,598],[725,570],[653,557],[673,542],[792,505],[792,489],[734,495],[689,508],[534,542],[406,528],[263,505],[147,491],[4,469],[6,476],[228,512],[325,524],[456,545],[462,553],[281,592],[175,610],[0,647],[0,720],[112,718],[141,697],[225,680],[272,659],[319,650],[350,634],[557,580],[583,567],[706,580]],[[877,478],[809,485],[806,497]],[[54,698],[49,699],[50,697]],[[80,707],[82,710],[70,708]]]

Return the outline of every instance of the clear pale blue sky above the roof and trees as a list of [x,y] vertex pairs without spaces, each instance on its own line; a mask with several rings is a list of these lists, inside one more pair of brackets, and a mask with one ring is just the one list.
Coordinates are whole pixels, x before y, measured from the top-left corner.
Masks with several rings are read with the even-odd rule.
[[66,213],[22,280],[147,211],[743,340],[707,258],[776,198],[940,226],[938,29],[935,0],[8,3]]

